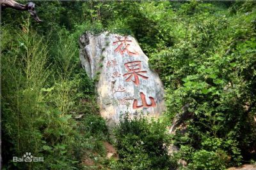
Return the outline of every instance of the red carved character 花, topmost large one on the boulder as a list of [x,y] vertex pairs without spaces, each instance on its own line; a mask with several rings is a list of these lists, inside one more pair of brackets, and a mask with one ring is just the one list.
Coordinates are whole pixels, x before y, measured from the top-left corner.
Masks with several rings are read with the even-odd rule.
[[129,46],[131,45],[132,40],[128,40],[127,37],[122,40],[118,36],[116,36],[118,41],[113,42],[113,45],[116,45],[117,43],[120,43],[115,49],[115,52],[120,52],[121,55],[124,55],[124,52],[127,52],[128,55],[138,55],[138,52],[131,52],[129,51]]

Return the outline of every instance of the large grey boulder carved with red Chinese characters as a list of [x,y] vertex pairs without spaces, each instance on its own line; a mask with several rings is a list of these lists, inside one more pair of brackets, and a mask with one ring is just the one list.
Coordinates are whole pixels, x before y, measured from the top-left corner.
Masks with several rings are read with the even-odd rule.
[[108,125],[120,114],[141,110],[159,117],[165,110],[164,90],[159,76],[148,67],[148,57],[132,36],[86,32],[80,37],[81,65],[97,82],[100,114]]

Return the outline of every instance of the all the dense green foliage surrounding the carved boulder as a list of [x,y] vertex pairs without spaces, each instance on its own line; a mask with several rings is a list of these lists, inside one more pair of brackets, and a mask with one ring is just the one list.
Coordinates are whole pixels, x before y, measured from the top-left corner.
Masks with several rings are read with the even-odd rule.
[[[36,2],[36,11],[44,22],[2,11],[4,168],[96,168],[81,164],[84,157],[113,169],[171,169],[179,159],[188,162],[184,169],[256,161],[255,2],[54,1]],[[166,92],[161,123],[124,117],[116,127],[117,162],[101,161],[108,132],[78,57],[84,31],[106,30],[138,39]],[[164,127],[186,104],[191,117],[168,136]],[[175,159],[160,147],[171,142],[180,148]],[[12,162],[26,152],[44,162]]]

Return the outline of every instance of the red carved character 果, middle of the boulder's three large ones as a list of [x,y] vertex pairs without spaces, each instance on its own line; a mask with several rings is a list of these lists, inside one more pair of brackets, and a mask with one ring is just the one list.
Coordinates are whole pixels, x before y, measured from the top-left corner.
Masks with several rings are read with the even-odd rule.
[[143,76],[141,73],[147,73],[147,71],[141,71],[141,61],[131,61],[124,64],[126,67],[128,73],[125,73],[123,76],[128,76],[128,78],[125,81],[131,81],[134,77],[134,80],[132,80],[135,85],[140,84],[139,76],[143,79],[148,79],[147,76]]

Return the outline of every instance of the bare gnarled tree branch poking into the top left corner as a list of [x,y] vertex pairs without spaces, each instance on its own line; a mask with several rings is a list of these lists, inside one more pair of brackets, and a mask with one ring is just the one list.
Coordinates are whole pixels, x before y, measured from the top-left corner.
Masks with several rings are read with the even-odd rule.
[[40,18],[38,18],[36,11],[35,11],[35,4],[34,3],[27,3],[27,4],[20,4],[13,0],[0,0],[1,8],[13,8],[15,10],[20,11],[29,11],[30,15],[36,20],[36,22],[42,22]]

